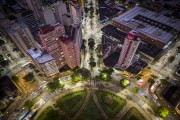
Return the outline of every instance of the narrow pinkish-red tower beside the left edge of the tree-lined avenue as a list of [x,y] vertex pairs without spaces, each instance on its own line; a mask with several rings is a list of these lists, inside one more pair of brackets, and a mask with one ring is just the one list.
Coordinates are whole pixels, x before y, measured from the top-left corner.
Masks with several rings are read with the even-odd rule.
[[64,52],[66,64],[71,68],[75,68],[80,65],[79,56],[77,56],[77,47],[74,40],[70,37],[64,38],[61,41],[61,46]]

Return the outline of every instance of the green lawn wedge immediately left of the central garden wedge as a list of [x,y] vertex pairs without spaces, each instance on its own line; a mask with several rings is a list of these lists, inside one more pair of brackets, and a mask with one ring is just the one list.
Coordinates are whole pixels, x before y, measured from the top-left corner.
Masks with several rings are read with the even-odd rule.
[[86,91],[69,93],[59,98],[55,106],[62,109],[69,117],[73,117],[82,106],[86,95]]

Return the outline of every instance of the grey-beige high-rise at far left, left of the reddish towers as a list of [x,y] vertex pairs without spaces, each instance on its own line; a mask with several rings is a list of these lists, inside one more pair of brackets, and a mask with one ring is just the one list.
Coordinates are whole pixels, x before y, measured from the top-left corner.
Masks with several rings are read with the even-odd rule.
[[39,47],[28,27],[22,22],[11,24],[6,31],[24,55],[26,55],[28,49]]

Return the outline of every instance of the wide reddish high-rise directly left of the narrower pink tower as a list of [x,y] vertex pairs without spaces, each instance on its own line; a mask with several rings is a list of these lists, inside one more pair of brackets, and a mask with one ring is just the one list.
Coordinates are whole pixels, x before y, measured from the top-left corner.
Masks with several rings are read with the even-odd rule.
[[39,38],[45,51],[56,61],[59,68],[65,65],[63,50],[60,45],[60,38],[65,34],[64,26],[55,24],[54,26],[44,26],[40,28]]

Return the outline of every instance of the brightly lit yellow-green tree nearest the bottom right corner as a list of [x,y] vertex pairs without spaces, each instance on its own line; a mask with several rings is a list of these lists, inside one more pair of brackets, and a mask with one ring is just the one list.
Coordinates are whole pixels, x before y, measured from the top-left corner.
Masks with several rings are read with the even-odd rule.
[[162,118],[167,117],[168,114],[169,114],[168,109],[165,108],[165,107],[163,107],[163,106],[158,106],[158,107],[156,108],[156,112],[157,112],[158,115],[159,115],[160,117],[162,117]]

